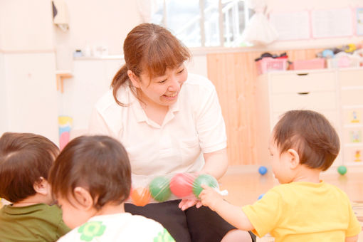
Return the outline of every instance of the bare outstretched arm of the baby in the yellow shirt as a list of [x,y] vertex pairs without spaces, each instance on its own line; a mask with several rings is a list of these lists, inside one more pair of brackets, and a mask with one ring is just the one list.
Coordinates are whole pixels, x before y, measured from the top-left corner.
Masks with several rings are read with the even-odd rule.
[[203,191],[199,194],[201,204],[209,206],[211,210],[216,211],[224,220],[238,229],[244,231],[255,229],[241,207],[234,206],[223,200],[222,196],[213,188],[206,185],[201,185],[201,187],[203,187]]

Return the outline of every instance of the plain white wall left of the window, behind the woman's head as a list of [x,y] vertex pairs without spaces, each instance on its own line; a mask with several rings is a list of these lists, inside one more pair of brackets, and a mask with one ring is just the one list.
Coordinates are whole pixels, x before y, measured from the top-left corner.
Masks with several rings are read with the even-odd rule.
[[56,45],[66,44],[73,51],[89,46],[107,46],[110,55],[122,53],[127,33],[141,23],[136,1],[65,0],[69,31],[56,30]]

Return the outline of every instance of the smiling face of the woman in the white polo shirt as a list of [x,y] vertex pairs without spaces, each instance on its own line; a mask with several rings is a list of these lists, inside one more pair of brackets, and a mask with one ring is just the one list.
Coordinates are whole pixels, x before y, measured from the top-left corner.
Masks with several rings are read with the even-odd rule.
[[138,86],[140,99],[146,104],[169,106],[177,102],[181,85],[188,78],[188,72],[181,64],[178,68],[167,69],[164,75],[149,78],[148,73],[140,75]]

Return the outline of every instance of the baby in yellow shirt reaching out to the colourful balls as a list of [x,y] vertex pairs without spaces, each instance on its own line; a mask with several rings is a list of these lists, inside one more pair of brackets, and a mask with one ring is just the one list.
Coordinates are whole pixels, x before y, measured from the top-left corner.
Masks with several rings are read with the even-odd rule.
[[275,125],[268,149],[280,185],[242,209],[203,185],[201,203],[236,228],[260,237],[270,233],[276,242],[357,241],[362,227],[347,194],[320,180],[340,149],[330,122],[318,112],[288,111]]

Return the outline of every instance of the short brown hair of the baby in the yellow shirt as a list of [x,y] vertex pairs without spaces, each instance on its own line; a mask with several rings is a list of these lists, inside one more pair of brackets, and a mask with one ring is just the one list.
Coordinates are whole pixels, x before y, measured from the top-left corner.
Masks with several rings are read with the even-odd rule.
[[300,164],[313,169],[328,169],[340,150],[334,127],[323,115],[311,110],[285,112],[273,131],[280,154],[295,149]]

